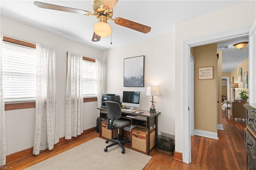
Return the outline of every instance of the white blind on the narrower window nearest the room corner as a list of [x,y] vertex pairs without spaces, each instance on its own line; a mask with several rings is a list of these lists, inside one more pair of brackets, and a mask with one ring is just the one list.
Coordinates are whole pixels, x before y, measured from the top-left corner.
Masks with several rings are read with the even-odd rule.
[[92,61],[82,61],[83,94],[84,97],[96,97],[96,64]]

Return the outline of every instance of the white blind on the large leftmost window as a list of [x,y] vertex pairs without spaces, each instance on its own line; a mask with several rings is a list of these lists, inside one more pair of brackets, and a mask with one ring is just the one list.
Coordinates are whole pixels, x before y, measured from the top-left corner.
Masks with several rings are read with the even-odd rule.
[[36,100],[36,49],[2,43],[4,102]]

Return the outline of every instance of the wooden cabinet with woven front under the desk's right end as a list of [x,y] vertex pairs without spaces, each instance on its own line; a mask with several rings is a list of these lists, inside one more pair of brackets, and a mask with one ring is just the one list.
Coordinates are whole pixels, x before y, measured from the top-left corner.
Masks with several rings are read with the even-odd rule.
[[[148,129],[136,127],[132,129],[132,140],[131,147],[134,150],[138,150],[145,154],[148,154],[150,150],[156,145],[156,130],[152,128],[150,134],[148,134]],[[150,138],[148,138],[150,135]],[[149,150],[148,150],[148,140],[150,140]]]

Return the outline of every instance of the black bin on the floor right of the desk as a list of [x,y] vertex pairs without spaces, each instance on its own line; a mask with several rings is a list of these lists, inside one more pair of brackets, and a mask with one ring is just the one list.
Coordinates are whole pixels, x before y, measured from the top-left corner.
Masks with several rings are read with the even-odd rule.
[[173,155],[175,150],[174,136],[167,137],[167,136],[157,135],[156,150],[164,154]]

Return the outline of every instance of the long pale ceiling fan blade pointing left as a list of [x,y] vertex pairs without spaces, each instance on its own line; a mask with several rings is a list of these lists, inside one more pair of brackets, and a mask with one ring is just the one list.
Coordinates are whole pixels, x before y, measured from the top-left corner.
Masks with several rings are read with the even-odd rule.
[[64,12],[72,12],[72,13],[76,13],[76,14],[84,15],[84,14],[90,13],[85,10],[80,10],[80,9],[70,8],[70,7],[66,7],[66,6],[60,6],[60,5],[54,5],[54,4],[48,4],[48,3],[44,3],[44,2],[38,2],[38,1],[35,1],[34,5],[36,5],[40,8],[45,8],[45,9],[50,9],[50,10],[58,10],[58,11],[64,11]]

